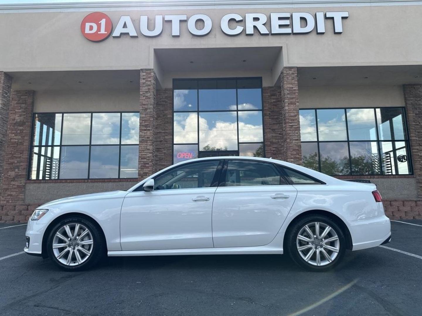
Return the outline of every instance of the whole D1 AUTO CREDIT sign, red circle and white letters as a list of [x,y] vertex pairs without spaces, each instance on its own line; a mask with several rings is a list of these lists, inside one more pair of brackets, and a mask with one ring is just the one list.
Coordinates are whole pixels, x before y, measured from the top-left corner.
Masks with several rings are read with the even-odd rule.
[[[246,13],[241,16],[237,13],[229,13],[220,20],[220,29],[225,35],[238,36],[242,33],[254,35],[257,29],[260,35],[287,35],[307,34],[316,30],[317,34],[325,33],[325,23],[331,20],[335,34],[343,33],[343,19],[349,17],[349,12],[316,12],[315,15],[307,12],[280,12],[270,13]],[[200,23],[197,23],[200,21]],[[163,24],[171,23],[171,35],[180,36],[182,22],[187,22],[187,29],[194,36],[206,36],[213,28],[212,20],[206,14],[194,14],[187,18],[186,14],[156,15],[154,27],[148,25],[148,16],[141,15],[137,27],[133,24],[130,16],[121,16],[113,31],[111,19],[101,12],[88,14],[81,23],[81,32],[93,42],[100,42],[107,37],[121,37],[129,35],[138,37],[138,31],[146,37],[160,36],[163,31]],[[198,27],[201,24],[201,27]]]

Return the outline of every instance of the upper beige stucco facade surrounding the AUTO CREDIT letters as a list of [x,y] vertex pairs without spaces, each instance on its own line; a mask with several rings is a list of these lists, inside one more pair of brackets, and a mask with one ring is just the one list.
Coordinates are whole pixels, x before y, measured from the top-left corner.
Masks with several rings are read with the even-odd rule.
[[[333,34],[333,23],[326,21],[326,33],[306,35],[225,35],[219,23],[227,13],[244,16],[249,12],[349,11],[343,21],[343,34]],[[103,70],[153,67],[153,48],[208,47],[283,47],[285,66],[345,66],[422,64],[422,5],[324,7],[324,8],[233,8],[195,10],[108,11],[114,25],[120,16],[130,15],[138,37],[108,38],[101,43],[85,39],[80,31],[87,12],[0,13],[0,43],[7,47],[0,54],[0,69],[30,70]],[[160,36],[140,35],[140,15],[148,15],[153,25],[156,14],[205,13],[213,28],[204,37],[195,37],[181,22],[180,37],[171,36],[171,24],[164,22]],[[396,21],[396,23],[392,23]],[[267,26],[269,25],[267,22]],[[240,22],[244,25],[244,22]]]

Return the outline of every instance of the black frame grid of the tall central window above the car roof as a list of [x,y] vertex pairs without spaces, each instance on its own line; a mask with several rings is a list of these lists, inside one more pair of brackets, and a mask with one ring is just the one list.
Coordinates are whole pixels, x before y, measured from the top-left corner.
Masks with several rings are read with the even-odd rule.
[[[262,108],[260,110],[239,110],[238,109],[238,80],[244,80],[244,79],[252,79],[252,80],[260,80],[260,89],[261,89],[261,105]],[[197,109],[194,111],[187,111],[187,110],[182,110],[182,111],[175,111],[174,110],[174,90],[179,90],[179,89],[175,89],[174,88],[174,83],[175,82],[181,82],[181,81],[192,81],[195,80],[197,81],[197,83],[199,83],[200,81],[206,81],[206,80],[236,80],[236,110],[200,110],[200,104],[199,104],[199,84],[197,87]],[[240,144],[260,144],[262,145],[262,149],[263,149],[263,153],[264,153],[264,157],[265,158],[265,124],[264,124],[264,92],[263,92],[263,88],[262,88],[262,77],[223,77],[223,78],[173,78],[172,81],[172,140],[171,140],[171,155],[172,155],[172,163],[174,162],[174,146],[175,145],[197,145],[197,158],[200,158],[200,152],[203,152],[203,150],[200,150],[200,139],[199,139],[199,115],[201,112],[236,112],[236,124],[237,124],[237,150],[227,150],[227,151],[237,151],[237,156],[240,155],[240,148],[239,145]],[[239,142],[239,112],[256,112],[256,111],[260,111],[262,114],[262,142]],[[197,114],[197,143],[175,143],[174,142],[174,115],[175,113],[196,113]],[[218,156],[217,156],[218,157]]]

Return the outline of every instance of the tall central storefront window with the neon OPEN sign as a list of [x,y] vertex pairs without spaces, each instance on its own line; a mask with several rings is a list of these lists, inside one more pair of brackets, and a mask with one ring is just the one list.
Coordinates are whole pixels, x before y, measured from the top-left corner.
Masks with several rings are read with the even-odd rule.
[[261,78],[173,80],[173,162],[264,156]]

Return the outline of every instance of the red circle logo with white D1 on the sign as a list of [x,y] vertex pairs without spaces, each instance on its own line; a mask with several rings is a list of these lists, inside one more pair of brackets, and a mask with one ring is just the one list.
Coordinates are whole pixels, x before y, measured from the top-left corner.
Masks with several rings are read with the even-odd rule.
[[102,12],[89,13],[81,23],[81,32],[92,42],[101,42],[110,36],[113,23],[107,14]]

